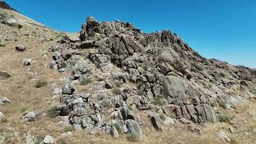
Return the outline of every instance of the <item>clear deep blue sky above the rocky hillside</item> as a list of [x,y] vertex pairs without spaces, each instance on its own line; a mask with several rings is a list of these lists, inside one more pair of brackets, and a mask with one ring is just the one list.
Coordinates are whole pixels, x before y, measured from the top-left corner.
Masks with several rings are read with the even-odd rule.
[[6,0],[56,30],[77,32],[92,15],[131,22],[144,32],[169,29],[206,58],[256,67],[255,0]]

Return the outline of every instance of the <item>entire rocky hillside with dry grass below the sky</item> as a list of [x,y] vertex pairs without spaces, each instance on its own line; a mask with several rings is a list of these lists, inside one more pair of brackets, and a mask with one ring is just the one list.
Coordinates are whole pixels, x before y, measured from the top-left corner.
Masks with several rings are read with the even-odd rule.
[[256,141],[254,70],[202,58],[168,30],[89,17],[61,34],[0,14],[0,143],[228,142],[220,130]]

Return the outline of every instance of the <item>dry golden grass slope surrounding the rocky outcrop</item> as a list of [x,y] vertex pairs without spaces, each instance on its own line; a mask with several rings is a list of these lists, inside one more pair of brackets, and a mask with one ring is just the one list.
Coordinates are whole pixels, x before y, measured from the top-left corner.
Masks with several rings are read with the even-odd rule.
[[[11,78],[0,79],[0,98],[10,99],[10,104],[0,106],[0,111],[6,116],[6,122],[0,122],[0,143],[26,143],[26,133],[42,140],[47,134],[57,139],[56,143],[130,143],[126,135],[115,139],[110,135],[90,135],[86,132],[73,132],[72,136],[62,137],[64,125],[62,118],[50,118],[47,110],[58,105],[58,98],[53,99],[52,91],[62,86],[64,77],[55,70],[50,70],[52,54],[48,49],[58,41],[63,34],[51,30],[42,24],[26,18],[11,10],[0,10],[1,13],[13,15],[22,24],[22,28],[14,28],[0,24],[0,70],[12,75]],[[42,42],[46,38],[46,42]],[[15,50],[15,46],[26,46],[24,52]],[[32,58],[31,66],[23,66],[22,59]],[[35,88],[38,80],[46,81],[47,86]],[[206,123],[202,134],[188,130],[187,125],[175,124],[164,126],[162,130],[154,130],[146,116],[142,126],[144,138],[138,143],[225,143],[218,138],[218,131],[224,130],[233,143],[256,142],[256,99],[241,103],[238,110],[224,110],[229,115],[230,123]],[[43,114],[34,122],[22,122],[21,117],[26,112],[41,110]],[[230,127],[234,129],[230,133]]]

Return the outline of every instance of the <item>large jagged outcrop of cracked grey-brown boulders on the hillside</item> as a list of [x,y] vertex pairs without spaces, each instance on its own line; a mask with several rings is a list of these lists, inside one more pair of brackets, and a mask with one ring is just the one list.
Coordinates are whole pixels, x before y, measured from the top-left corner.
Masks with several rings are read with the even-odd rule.
[[[159,128],[158,114],[195,123],[216,122],[218,106],[235,107],[239,99],[248,97],[240,95],[239,89],[249,96],[256,93],[254,70],[202,58],[169,30],[145,34],[128,22],[98,22],[89,17],[80,40],[65,37],[50,51],[54,52],[51,68],[62,73],[72,70],[74,83],[98,78],[98,70],[106,74],[94,94],[79,94],[71,84],[62,90],[61,114],[69,115],[76,130],[110,134],[111,126],[118,123],[124,132],[142,138],[143,122],[129,106],[149,114]],[[117,86],[120,92],[114,92]],[[103,108],[106,103],[109,110]],[[112,113],[109,122],[106,111]]]

